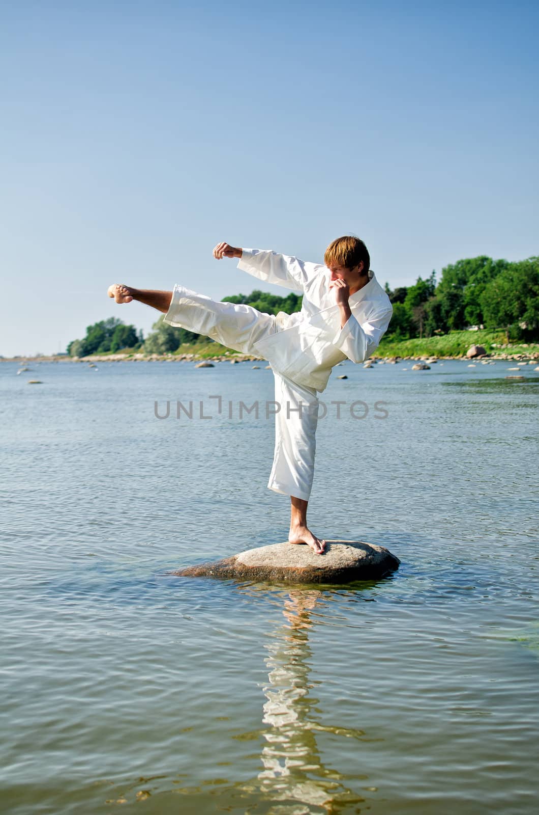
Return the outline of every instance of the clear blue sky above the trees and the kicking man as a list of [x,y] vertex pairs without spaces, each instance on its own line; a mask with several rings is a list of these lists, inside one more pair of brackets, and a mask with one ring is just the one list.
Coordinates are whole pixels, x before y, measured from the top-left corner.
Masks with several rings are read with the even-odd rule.
[[539,253],[538,33],[537,0],[0,0],[0,355],[151,328],[111,283],[259,288],[219,240],[353,232],[392,287]]

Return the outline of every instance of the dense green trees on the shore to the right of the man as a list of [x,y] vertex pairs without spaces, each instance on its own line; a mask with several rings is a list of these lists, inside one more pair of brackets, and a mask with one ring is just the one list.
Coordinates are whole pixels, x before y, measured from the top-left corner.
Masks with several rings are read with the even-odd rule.
[[442,269],[413,286],[386,292],[393,305],[388,336],[432,337],[470,326],[503,328],[507,339],[539,337],[539,258],[509,262],[481,255]]

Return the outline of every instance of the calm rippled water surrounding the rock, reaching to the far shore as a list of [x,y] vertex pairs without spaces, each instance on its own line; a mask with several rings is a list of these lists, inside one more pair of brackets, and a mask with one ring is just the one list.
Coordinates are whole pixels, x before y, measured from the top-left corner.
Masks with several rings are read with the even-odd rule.
[[285,540],[270,371],[2,363],[2,813],[535,813],[539,375],[513,365],[336,368],[309,522],[402,563],[321,589],[169,575]]

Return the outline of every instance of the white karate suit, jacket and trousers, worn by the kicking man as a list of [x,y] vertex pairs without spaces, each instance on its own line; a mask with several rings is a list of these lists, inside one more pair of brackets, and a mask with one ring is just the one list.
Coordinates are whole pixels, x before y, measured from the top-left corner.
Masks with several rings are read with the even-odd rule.
[[334,365],[347,358],[359,363],[372,354],[388,328],[392,305],[369,272],[369,282],[349,298],[352,315],[341,328],[339,306],[329,288],[331,272],[322,264],[269,250],[243,249],[238,268],[266,283],[303,293],[301,311],[262,314],[252,306],[215,302],[176,285],[164,321],[269,361],[280,410],[275,415],[274,465],[268,487],[309,500],[317,391],[326,388]]

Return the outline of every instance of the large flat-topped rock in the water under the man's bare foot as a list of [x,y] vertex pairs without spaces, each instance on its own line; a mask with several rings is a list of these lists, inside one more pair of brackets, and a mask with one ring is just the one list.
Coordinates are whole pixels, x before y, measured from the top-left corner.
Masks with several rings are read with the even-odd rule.
[[326,552],[303,544],[248,549],[225,560],[173,571],[180,577],[218,577],[278,583],[348,583],[383,577],[399,567],[388,549],[355,540],[328,540]]

